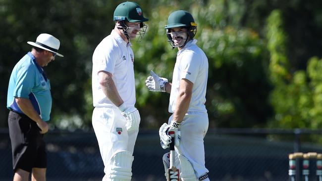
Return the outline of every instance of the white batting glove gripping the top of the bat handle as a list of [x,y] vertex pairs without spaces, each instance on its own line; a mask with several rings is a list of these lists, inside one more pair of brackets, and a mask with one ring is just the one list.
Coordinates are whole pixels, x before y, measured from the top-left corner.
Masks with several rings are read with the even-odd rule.
[[180,143],[180,131],[178,131],[178,128],[180,126],[180,123],[171,121],[170,125],[163,123],[163,125],[160,127],[159,130],[159,136],[160,136],[160,144],[163,149],[166,149],[170,146],[171,142],[171,136],[169,136],[169,132],[174,132],[174,145],[179,146]]

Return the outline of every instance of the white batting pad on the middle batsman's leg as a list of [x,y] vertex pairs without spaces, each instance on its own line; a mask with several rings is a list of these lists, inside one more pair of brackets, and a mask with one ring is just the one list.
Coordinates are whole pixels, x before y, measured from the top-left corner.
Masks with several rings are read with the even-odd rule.
[[131,181],[134,157],[129,151],[119,151],[110,160],[109,181]]

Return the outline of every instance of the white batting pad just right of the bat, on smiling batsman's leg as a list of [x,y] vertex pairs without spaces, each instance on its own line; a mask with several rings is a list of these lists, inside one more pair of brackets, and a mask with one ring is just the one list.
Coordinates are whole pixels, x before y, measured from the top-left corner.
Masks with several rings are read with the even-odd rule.
[[193,167],[189,160],[184,157],[183,155],[178,155],[180,165],[181,165],[181,180],[182,181],[198,181],[195,171],[193,170]]

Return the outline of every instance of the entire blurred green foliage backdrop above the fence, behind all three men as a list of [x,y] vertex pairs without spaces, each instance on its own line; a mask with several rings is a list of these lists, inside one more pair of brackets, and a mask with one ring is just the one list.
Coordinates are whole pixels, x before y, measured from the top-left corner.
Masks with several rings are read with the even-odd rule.
[[[46,32],[59,38],[59,52],[65,55],[45,68],[52,84],[51,128],[91,128],[92,53],[113,28],[113,10],[120,2],[0,0],[0,120],[6,120],[13,66],[30,50],[26,42]],[[143,41],[132,42],[142,127],[158,128],[169,116],[169,95],[148,91],[144,81],[150,70],[171,81],[177,49],[166,42],[164,25],[177,9],[194,16],[197,45],[209,59],[210,128],[320,127],[321,1],[137,2],[150,19]]]

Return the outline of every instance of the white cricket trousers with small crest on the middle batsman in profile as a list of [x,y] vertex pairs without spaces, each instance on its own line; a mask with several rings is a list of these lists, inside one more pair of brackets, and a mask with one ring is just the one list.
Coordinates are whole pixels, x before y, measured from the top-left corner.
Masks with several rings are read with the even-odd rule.
[[139,131],[127,132],[126,120],[117,108],[95,107],[92,124],[105,166],[104,173],[108,174],[110,159],[116,152],[125,150],[133,154]]

